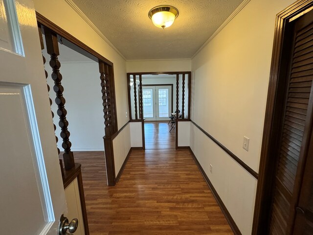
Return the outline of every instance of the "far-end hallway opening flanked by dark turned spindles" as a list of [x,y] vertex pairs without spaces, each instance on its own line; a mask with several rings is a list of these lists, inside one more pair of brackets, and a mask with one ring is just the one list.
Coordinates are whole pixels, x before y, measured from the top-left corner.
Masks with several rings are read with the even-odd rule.
[[142,137],[142,149],[178,149],[178,123],[190,121],[191,72],[132,72],[127,83],[133,138]]

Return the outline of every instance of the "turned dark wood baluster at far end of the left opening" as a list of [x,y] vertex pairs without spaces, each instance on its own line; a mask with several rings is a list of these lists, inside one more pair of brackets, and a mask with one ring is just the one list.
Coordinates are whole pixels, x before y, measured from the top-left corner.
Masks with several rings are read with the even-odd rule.
[[100,80],[101,80],[101,93],[102,93],[102,105],[104,113],[105,135],[107,138],[112,135],[112,119],[111,119],[111,104],[110,104],[110,84],[107,65],[103,62],[99,62]]

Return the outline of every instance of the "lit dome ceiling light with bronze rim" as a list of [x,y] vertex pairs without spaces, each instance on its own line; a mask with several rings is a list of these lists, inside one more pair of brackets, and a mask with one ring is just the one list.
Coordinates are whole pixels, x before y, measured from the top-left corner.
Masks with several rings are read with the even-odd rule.
[[161,5],[152,8],[148,15],[156,27],[167,28],[174,23],[178,14],[179,12],[174,6]]

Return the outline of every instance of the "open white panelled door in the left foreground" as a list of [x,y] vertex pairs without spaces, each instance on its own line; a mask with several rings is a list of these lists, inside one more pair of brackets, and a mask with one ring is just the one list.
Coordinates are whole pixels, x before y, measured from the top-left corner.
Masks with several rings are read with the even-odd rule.
[[66,202],[32,0],[0,0],[0,47],[0,234],[57,235]]

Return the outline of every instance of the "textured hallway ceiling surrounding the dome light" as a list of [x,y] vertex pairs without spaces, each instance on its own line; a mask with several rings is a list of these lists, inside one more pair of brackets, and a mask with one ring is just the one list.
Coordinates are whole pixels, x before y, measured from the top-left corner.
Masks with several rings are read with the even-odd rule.
[[[243,0],[72,0],[127,60],[191,58]],[[151,8],[179,10],[174,24],[157,28]]]

